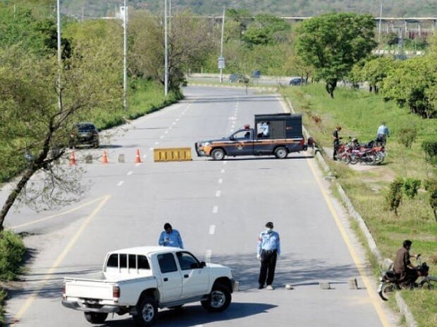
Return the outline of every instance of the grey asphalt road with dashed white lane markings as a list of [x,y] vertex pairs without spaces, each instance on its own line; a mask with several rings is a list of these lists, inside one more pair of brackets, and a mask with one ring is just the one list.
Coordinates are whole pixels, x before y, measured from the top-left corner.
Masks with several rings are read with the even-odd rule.
[[[27,233],[30,248],[25,281],[6,307],[11,325],[90,326],[81,312],[61,306],[63,276],[99,271],[109,250],[156,245],[170,222],[199,259],[232,267],[240,292],[226,312],[208,314],[190,304],[182,312],[163,310],[158,326],[389,327],[392,318],[363,275],[362,250],[309,153],[214,162],[193,150],[191,162],[153,162],[153,148],[193,146],[253,124],[254,114],[283,112],[271,94],[189,87],[185,95],[113,131],[102,142],[109,164],[99,161],[101,150],[77,151],[88,186],[79,203],[39,214],[22,207],[7,217],[6,226]],[[141,164],[134,163],[137,149]],[[85,153],[97,159],[86,164]],[[118,162],[121,154],[125,163]],[[0,200],[5,196],[1,191]],[[283,252],[273,291],[257,290],[257,236],[268,221],[281,235]],[[348,288],[350,278],[357,278],[359,290]],[[321,281],[332,289],[321,290]],[[285,290],[285,283],[295,289]],[[113,316],[103,326],[133,322]]]

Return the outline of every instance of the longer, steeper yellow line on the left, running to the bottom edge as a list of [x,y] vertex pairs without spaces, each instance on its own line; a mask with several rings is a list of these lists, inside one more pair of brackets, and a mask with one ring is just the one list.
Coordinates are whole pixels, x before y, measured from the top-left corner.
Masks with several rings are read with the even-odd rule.
[[51,278],[51,274],[54,273],[54,271],[59,267],[59,264],[61,264],[62,260],[65,259],[68,252],[70,252],[71,248],[75,245],[75,243],[78,241],[80,236],[82,235],[83,231],[87,228],[87,226],[90,224],[92,219],[96,216],[96,214],[101,210],[101,208],[106,204],[106,202],[111,198],[111,195],[105,195],[103,197],[103,200],[99,203],[99,205],[93,210],[93,212],[85,219],[85,221],[82,223],[78,231],[75,233],[73,238],[71,238],[70,242],[68,242],[68,245],[64,250],[61,252],[61,254],[56,258],[54,264],[51,266],[49,271],[47,272],[46,276],[42,279],[42,283],[39,285],[35,293],[30,295],[30,297],[27,298],[26,302],[23,304],[23,306],[20,308],[16,316],[14,317],[13,321],[11,322],[11,325],[13,323],[16,323],[20,321],[21,318],[23,318],[23,315],[25,312],[27,312],[27,309],[29,309],[32,302],[35,300],[37,295],[39,295],[39,292],[44,288],[45,283],[47,283],[47,280]]

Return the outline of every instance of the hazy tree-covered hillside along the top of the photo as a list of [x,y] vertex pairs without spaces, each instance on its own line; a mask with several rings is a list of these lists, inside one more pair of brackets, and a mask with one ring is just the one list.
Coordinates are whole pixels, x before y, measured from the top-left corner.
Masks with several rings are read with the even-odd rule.
[[[122,0],[63,0],[65,11],[72,15],[96,17],[113,15]],[[429,0],[386,0],[383,3],[385,17],[436,17],[437,2]],[[147,9],[154,13],[163,10],[162,0],[129,0],[130,6]],[[368,13],[379,15],[381,1],[360,0],[172,0],[176,11],[190,10],[199,15],[220,15],[223,6],[246,9],[251,13],[272,13],[279,16],[314,16],[331,11]]]

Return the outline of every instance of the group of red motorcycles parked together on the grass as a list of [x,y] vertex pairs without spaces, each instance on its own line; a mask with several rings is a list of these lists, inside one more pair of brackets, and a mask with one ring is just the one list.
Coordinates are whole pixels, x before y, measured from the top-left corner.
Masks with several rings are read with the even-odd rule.
[[356,138],[349,138],[347,143],[340,143],[336,158],[346,164],[355,165],[362,162],[366,165],[379,165],[386,158],[385,142],[378,139],[369,143],[359,143]]

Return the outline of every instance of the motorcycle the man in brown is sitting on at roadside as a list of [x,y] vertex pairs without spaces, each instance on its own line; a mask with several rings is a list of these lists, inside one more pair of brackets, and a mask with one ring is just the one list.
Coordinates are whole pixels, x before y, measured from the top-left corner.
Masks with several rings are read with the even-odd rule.
[[424,288],[428,290],[437,289],[437,277],[429,276],[429,266],[426,262],[421,263],[420,255],[417,255],[417,270],[418,277],[421,280],[416,281],[400,281],[398,274],[392,270],[393,264],[390,265],[389,270],[381,271],[381,279],[378,286],[378,294],[384,301],[387,301],[396,290],[408,289],[412,290],[414,288]]

